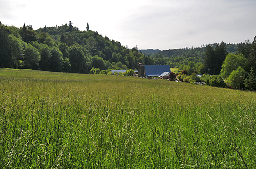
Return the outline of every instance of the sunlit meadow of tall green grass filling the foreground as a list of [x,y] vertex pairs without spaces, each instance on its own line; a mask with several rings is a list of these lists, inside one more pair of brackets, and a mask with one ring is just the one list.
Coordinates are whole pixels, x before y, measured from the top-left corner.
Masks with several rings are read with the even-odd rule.
[[0,168],[255,168],[256,93],[0,69]]

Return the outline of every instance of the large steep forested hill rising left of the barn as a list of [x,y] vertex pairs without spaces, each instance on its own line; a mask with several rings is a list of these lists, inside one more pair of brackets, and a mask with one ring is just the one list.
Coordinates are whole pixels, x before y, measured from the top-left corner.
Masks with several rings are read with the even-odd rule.
[[89,29],[69,24],[33,30],[0,22],[0,67],[74,73],[107,73],[110,69],[135,69],[154,60],[120,42]]

